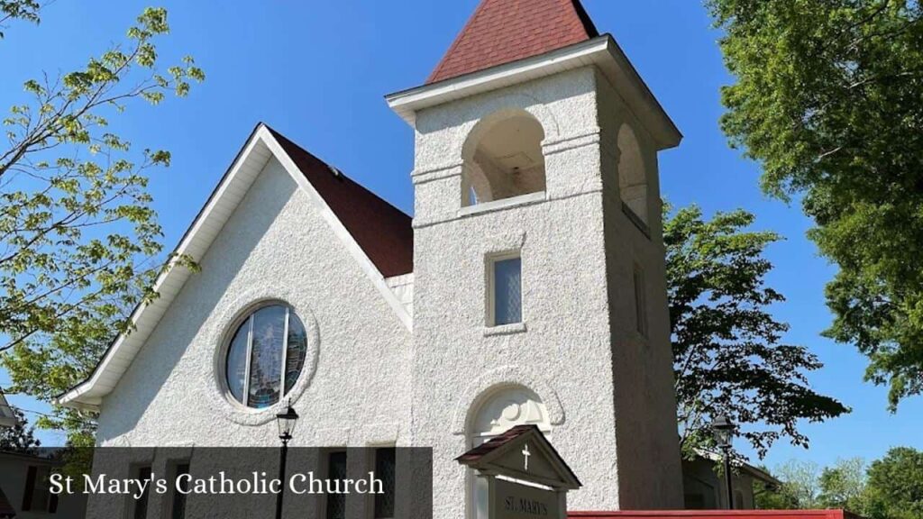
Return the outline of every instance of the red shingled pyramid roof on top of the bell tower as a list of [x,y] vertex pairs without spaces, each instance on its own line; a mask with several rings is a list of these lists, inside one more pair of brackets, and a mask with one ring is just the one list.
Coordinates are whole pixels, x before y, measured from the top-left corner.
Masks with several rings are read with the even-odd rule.
[[426,83],[599,36],[580,0],[482,0]]

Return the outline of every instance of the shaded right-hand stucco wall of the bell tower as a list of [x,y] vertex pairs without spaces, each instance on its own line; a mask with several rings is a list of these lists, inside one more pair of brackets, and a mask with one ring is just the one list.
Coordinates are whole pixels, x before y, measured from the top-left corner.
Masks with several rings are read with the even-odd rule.
[[[623,509],[679,508],[682,486],[673,391],[673,353],[666,300],[665,248],[657,155],[653,139],[602,75],[597,75],[613,380]],[[618,193],[617,136],[629,125],[639,141],[647,179],[650,236],[629,220]],[[643,272],[647,336],[637,332],[634,269]]]

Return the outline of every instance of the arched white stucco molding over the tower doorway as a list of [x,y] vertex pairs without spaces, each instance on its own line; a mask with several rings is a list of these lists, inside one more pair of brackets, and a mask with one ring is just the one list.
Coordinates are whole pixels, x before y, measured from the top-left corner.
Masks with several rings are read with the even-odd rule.
[[477,405],[482,403],[487,394],[503,386],[522,386],[531,390],[545,404],[551,425],[564,423],[564,407],[557,398],[557,392],[544,378],[530,368],[503,366],[487,371],[468,384],[462,396],[455,402],[451,421],[452,434],[465,434],[468,420]]

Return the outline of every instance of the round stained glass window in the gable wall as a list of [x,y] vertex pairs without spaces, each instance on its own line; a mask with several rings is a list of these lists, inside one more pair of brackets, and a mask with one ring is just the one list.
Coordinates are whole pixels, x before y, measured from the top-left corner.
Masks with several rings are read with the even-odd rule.
[[241,323],[228,346],[226,378],[234,400],[257,409],[282,401],[307,355],[305,325],[291,307],[259,308]]

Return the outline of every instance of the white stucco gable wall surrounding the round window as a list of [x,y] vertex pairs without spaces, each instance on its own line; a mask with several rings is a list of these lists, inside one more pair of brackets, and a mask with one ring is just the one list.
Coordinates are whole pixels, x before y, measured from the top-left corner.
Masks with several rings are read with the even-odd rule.
[[276,445],[275,410],[222,392],[222,347],[260,300],[293,306],[309,329],[294,388],[293,445],[402,443],[409,433],[409,332],[306,193],[270,160],[102,404],[103,445]]

